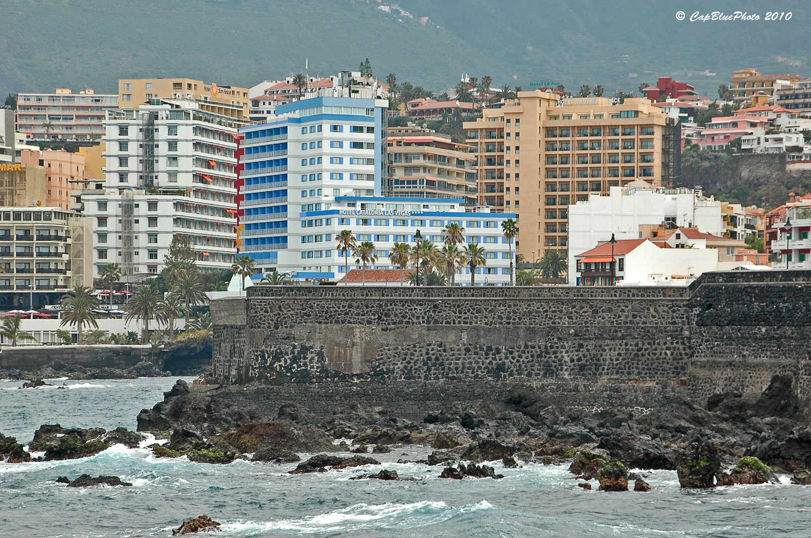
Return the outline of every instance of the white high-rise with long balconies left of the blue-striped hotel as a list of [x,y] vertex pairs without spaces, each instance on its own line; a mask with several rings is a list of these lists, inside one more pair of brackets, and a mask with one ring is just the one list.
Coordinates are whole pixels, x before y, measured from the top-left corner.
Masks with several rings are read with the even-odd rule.
[[191,237],[201,270],[234,262],[238,147],[234,119],[193,101],[110,110],[103,190],[82,191],[93,219],[93,265],[161,271],[174,235]]

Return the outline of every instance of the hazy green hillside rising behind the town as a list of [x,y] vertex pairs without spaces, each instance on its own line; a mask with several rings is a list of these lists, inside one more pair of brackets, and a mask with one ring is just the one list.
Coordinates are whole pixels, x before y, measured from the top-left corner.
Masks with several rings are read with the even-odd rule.
[[[763,20],[763,3],[792,19]],[[115,92],[118,78],[146,76],[252,86],[303,71],[304,58],[314,75],[370,58],[375,75],[437,92],[462,73],[491,75],[494,86],[554,80],[607,92],[670,75],[710,96],[741,67],[811,76],[811,18],[797,0],[712,6],[761,14],[753,23],[677,21],[678,10],[706,10],[695,0],[397,5],[407,13],[367,0],[3,0],[0,94]]]

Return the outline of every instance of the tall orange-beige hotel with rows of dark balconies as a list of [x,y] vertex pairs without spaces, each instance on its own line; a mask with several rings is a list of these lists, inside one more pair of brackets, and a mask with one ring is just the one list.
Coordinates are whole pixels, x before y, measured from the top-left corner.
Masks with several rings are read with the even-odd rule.
[[478,156],[478,203],[518,214],[516,250],[526,259],[567,250],[570,203],[636,178],[673,186],[679,173],[680,124],[646,99],[519,92],[464,125]]

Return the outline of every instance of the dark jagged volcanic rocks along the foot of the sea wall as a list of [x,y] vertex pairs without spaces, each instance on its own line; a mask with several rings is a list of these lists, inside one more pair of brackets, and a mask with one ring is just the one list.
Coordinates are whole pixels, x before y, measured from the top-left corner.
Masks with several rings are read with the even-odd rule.
[[[683,400],[641,416],[560,408],[538,395],[510,391],[500,408],[451,405],[427,413],[422,422],[357,404],[328,417],[287,404],[267,416],[244,404],[249,399],[234,403],[217,391],[191,390],[178,380],[162,402],[139,413],[138,432],[43,425],[28,450],[44,452],[46,461],[79,458],[118,442],[139,446],[143,432],[150,432],[168,438],[150,446],[157,457],[186,455],[202,463],[298,463],[298,454],[317,454],[298,463],[294,474],[374,464],[367,454],[418,445],[432,449],[419,461],[457,480],[498,479],[484,463],[513,468],[521,462],[570,463],[573,477],[598,480],[604,491],[650,490],[643,476],[629,472],[633,468],[676,470],[689,488],[776,482],[777,472],[792,475],[793,484],[811,484],[809,418],[790,377],[775,376],[761,394],[714,395],[704,406]],[[22,462],[32,455],[0,435],[0,458]],[[397,480],[397,473],[385,469],[377,475],[356,478]]]

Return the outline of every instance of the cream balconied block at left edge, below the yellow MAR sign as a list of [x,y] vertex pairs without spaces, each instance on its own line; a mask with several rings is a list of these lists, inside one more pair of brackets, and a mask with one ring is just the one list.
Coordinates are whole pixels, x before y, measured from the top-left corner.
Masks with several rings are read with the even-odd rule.
[[92,285],[84,271],[85,221],[59,207],[0,209],[0,308],[54,305],[75,284]]

